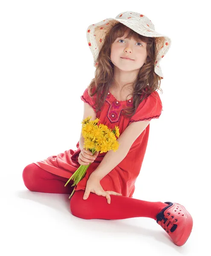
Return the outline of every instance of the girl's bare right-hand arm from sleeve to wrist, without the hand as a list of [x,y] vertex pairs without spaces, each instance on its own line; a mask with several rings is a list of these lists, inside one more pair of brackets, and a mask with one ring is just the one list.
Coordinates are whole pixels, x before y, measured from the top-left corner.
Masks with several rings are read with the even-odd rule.
[[101,163],[98,165],[95,171],[92,172],[91,175],[94,175],[96,178],[101,180],[110,171],[112,171],[124,159],[124,157],[127,156],[127,153],[133,145],[134,141],[145,130],[149,123],[150,121],[137,121],[127,126],[124,132],[117,139],[120,144],[117,151],[108,151]]

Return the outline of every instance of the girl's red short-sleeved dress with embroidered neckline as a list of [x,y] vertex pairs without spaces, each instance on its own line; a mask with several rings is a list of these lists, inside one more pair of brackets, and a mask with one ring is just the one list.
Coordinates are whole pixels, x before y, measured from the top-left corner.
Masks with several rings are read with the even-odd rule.
[[[94,98],[92,99],[88,94],[88,89],[86,88],[81,99],[84,102],[87,102],[95,110],[95,106],[93,106],[95,96],[93,96]],[[136,113],[131,118],[121,115],[121,110],[131,105],[133,105],[133,97],[127,101],[117,101],[109,92],[101,111],[98,111],[96,114],[96,117],[100,119],[98,124],[103,123],[110,129],[115,128],[115,125],[118,126],[121,136],[121,133],[128,125],[130,125],[131,122],[159,118],[162,112],[162,102],[156,91],[151,93],[150,96],[139,104]],[[121,193],[123,196],[132,198],[135,190],[136,178],[141,170],[147,148],[149,129],[150,124],[147,125],[147,128],[145,128],[142,134],[140,134],[140,136],[134,141],[127,153],[127,156],[111,172],[102,178],[100,184],[105,191],[115,191]],[[34,163],[48,172],[69,179],[80,166],[78,163],[78,155],[81,152],[79,141],[76,148],[76,150],[68,149],[63,153],[49,156],[45,160]],[[95,161],[91,163],[87,169],[87,173],[84,178],[75,186],[75,190],[82,189],[85,191],[86,183],[90,174],[101,163],[105,154],[106,153],[101,154],[99,152]]]

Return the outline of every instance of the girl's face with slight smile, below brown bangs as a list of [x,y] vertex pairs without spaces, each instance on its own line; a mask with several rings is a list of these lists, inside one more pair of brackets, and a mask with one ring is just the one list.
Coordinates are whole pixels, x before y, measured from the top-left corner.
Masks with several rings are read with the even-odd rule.
[[[128,57],[133,60],[126,60],[121,57]],[[125,38],[125,35],[116,40],[111,45],[111,61],[123,71],[140,69],[147,58],[147,43],[135,41],[133,38]]]

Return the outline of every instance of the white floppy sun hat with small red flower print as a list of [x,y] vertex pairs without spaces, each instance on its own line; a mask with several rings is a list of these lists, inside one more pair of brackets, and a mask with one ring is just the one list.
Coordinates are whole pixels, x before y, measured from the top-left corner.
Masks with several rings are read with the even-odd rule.
[[156,45],[156,60],[155,60],[155,73],[163,79],[163,74],[159,62],[168,52],[171,46],[171,39],[155,31],[155,26],[149,18],[138,12],[122,12],[116,16],[116,18],[107,18],[98,23],[91,24],[87,28],[87,41],[94,58],[94,67],[97,66],[97,58],[101,45],[104,41],[108,31],[121,22],[125,26],[133,29],[136,33],[146,36],[154,37]]

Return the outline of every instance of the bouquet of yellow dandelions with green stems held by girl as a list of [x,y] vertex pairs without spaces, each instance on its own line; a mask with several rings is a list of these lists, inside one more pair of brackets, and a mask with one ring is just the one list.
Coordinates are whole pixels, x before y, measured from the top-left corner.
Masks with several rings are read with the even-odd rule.
[[[120,135],[119,128],[115,125],[115,129],[111,130],[107,127],[107,125],[98,125],[98,118],[96,118],[94,121],[90,121],[90,119],[91,116],[88,116],[81,122],[83,124],[82,136],[84,137],[84,148],[86,148],[86,150],[90,150],[92,154],[94,154],[95,151],[100,151],[100,153],[103,153],[113,150],[115,152],[119,148],[119,142],[116,140],[116,137],[119,138]],[[78,182],[85,176],[90,164],[86,166],[79,166],[64,186],[66,186],[70,180],[74,180],[72,186],[77,185]],[[69,198],[72,197],[74,192],[75,189],[73,189]]]

